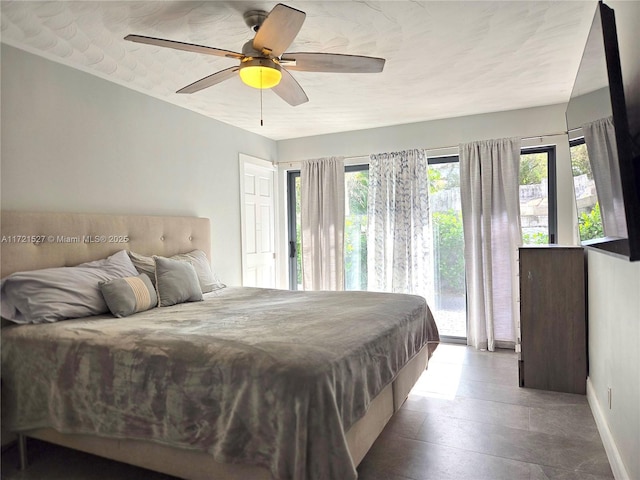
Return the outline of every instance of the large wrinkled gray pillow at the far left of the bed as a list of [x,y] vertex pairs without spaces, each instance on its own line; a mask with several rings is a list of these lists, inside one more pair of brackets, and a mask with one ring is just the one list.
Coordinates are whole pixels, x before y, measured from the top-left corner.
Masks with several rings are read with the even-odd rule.
[[126,250],[75,267],[12,273],[0,284],[1,314],[15,323],[44,323],[106,313],[99,283],[137,274]]

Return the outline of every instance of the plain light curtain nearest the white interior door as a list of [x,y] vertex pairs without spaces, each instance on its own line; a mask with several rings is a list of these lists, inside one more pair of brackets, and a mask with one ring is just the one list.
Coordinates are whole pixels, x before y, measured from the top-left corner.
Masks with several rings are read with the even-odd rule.
[[300,168],[302,286],[344,290],[344,158],[305,160]]

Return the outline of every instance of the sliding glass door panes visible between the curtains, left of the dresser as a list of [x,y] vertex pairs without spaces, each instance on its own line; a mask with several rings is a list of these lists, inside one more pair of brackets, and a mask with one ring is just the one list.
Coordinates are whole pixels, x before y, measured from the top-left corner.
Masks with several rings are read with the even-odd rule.
[[[466,337],[464,243],[458,157],[429,159],[434,298],[427,299],[440,334]],[[345,169],[345,289],[367,289],[368,165]],[[300,172],[288,174],[289,286],[302,289]]]

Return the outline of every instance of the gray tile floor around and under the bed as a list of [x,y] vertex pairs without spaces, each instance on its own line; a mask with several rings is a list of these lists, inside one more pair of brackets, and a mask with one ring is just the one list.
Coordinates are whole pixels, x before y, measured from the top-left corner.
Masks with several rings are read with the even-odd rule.
[[[513,352],[440,345],[359,480],[613,479],[586,397],[517,385]],[[173,480],[42,442],[29,453],[20,472],[16,449],[5,451],[2,478]]]

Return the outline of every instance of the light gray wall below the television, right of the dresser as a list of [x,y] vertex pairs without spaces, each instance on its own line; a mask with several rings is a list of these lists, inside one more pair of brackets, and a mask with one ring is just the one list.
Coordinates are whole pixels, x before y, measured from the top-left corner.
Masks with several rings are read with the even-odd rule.
[[[617,479],[640,478],[640,262],[588,254],[589,404]],[[611,408],[607,390],[611,389]]]

